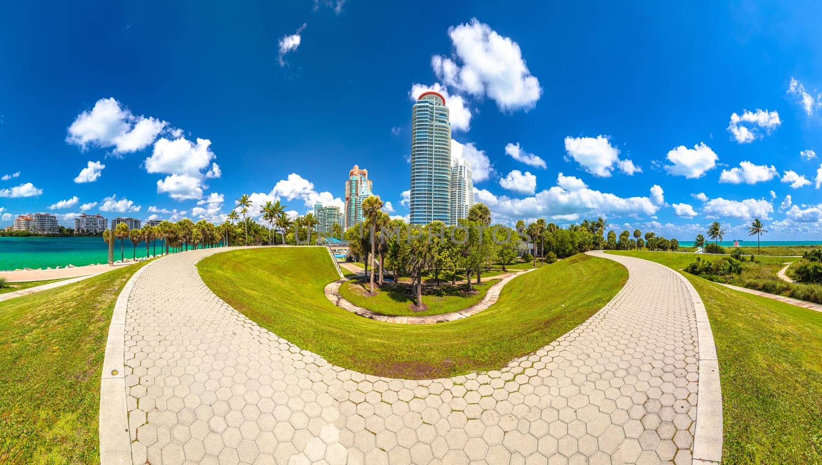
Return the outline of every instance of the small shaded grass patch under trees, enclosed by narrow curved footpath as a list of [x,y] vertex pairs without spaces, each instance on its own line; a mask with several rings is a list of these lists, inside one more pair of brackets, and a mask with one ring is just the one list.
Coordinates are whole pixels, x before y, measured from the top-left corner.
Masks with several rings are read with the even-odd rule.
[[365,293],[369,289],[368,281],[353,280],[339,287],[339,295],[356,306],[382,315],[442,315],[464,310],[478,303],[488,292],[488,288],[496,282],[496,279],[492,279],[483,280],[482,284],[473,284],[472,287],[478,291],[476,294],[466,294],[464,291],[468,287],[464,284],[451,286],[450,283],[443,283],[438,288],[423,285],[423,303],[428,306],[427,311],[413,311],[409,307],[410,304],[417,302],[416,288],[411,284],[386,284],[382,289],[375,286],[376,296],[367,297]]

